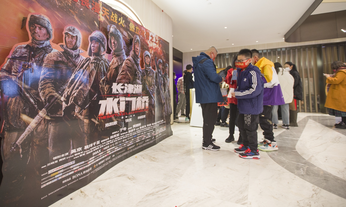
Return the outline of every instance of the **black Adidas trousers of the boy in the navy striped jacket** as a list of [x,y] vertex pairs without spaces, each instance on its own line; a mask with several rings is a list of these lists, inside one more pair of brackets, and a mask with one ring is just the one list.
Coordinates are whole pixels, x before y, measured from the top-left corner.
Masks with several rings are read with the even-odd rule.
[[251,150],[257,151],[257,129],[259,115],[239,114],[238,128],[243,138],[244,146],[249,146]]

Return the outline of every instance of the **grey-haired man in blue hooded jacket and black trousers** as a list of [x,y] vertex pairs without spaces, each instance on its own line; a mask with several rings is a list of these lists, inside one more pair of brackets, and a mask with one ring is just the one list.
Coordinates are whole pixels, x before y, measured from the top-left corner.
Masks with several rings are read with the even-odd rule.
[[219,83],[223,82],[224,78],[217,75],[214,64],[217,53],[215,47],[210,47],[199,56],[192,57],[196,103],[201,104],[203,116],[202,148],[212,151],[220,149],[213,144],[215,139],[212,139],[212,133],[217,120],[217,102],[223,101]]

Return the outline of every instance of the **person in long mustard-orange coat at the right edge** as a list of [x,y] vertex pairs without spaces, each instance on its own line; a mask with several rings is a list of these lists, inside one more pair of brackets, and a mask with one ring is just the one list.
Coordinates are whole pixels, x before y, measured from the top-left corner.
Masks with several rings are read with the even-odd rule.
[[342,117],[342,121],[335,125],[338,129],[346,129],[346,65],[343,62],[331,63],[334,74],[324,74],[327,77],[328,95],[325,107],[329,108],[329,115]]

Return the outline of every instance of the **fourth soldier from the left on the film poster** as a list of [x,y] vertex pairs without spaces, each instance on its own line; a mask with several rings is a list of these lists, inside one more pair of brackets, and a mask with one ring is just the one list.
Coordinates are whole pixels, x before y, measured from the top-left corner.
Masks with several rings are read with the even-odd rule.
[[108,46],[112,50],[112,60],[109,64],[107,75],[102,83],[104,85],[104,95],[109,95],[111,93],[112,84],[113,82],[116,82],[122,63],[124,63],[126,59],[122,35],[114,25],[111,25],[109,29]]

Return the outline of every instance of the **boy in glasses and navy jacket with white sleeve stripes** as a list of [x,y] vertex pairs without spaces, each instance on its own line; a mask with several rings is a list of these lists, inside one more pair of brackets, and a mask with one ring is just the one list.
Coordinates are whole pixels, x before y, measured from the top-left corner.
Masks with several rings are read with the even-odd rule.
[[264,82],[261,71],[251,64],[252,52],[242,49],[235,62],[238,71],[237,88],[232,96],[238,99],[238,128],[243,145],[234,149],[245,159],[260,159],[257,149],[257,129],[263,111]]

